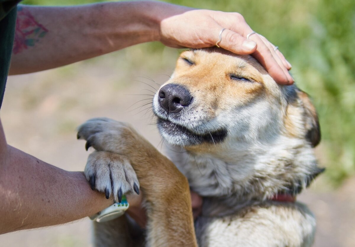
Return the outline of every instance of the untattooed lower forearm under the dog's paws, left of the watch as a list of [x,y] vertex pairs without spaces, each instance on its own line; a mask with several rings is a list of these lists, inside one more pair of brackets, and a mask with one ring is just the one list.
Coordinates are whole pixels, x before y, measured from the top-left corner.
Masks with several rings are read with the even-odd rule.
[[63,224],[112,204],[90,189],[81,172],[68,172],[8,146],[0,164],[0,234]]

